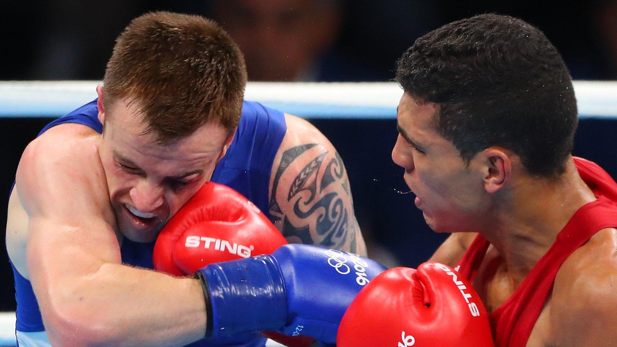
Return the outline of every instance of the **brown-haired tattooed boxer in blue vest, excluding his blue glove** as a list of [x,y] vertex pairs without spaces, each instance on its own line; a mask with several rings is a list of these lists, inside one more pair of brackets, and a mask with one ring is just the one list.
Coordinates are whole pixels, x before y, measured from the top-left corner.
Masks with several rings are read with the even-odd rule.
[[284,238],[365,254],[346,170],[310,123],[243,101],[246,67],[215,23],[155,12],[120,35],[98,98],[25,149],[6,245],[20,346],[263,346],[204,340],[199,280],[152,269],[154,241],[205,182]]

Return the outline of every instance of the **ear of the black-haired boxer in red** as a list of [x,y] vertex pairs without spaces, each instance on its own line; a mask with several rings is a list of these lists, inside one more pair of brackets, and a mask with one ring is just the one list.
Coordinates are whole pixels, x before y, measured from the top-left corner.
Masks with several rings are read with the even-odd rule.
[[495,193],[510,180],[512,162],[509,151],[503,148],[491,147],[482,151],[484,157],[484,189]]

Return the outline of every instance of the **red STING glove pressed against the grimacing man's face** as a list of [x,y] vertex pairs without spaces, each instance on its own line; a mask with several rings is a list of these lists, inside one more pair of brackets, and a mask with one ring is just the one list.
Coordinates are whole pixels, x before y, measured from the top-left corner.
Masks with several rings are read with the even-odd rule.
[[[170,275],[192,275],[214,262],[271,254],[287,240],[242,194],[207,182],[165,225],[154,245],[154,268]],[[289,347],[310,346],[313,338],[263,332]]]

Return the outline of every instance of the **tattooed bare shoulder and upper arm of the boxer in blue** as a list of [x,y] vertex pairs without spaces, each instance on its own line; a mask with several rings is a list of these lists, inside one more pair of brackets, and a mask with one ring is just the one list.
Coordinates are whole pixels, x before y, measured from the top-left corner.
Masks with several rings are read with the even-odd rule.
[[291,243],[365,254],[341,156],[311,123],[289,114],[285,122],[270,175],[270,219]]

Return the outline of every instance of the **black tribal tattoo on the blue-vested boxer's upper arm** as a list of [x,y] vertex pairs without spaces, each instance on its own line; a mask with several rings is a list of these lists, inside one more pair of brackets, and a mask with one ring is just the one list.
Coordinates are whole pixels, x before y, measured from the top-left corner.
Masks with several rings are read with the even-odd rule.
[[[307,162],[297,174],[289,167]],[[290,176],[291,175],[291,176]],[[283,236],[308,245],[356,252],[358,224],[349,178],[341,156],[317,143],[283,153],[270,194],[270,218],[283,224]]]

